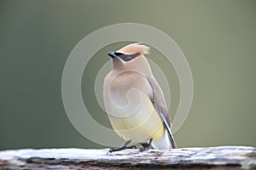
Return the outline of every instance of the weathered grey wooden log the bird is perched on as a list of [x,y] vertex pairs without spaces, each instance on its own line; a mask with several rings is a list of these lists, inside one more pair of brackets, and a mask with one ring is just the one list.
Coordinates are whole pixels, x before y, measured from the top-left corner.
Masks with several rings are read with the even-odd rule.
[[220,146],[176,150],[44,149],[0,151],[0,169],[256,169],[256,148]]

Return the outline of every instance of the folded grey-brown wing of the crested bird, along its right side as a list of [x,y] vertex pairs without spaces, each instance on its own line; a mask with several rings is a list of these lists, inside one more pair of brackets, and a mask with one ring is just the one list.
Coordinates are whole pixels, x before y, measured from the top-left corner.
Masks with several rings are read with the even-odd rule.
[[156,82],[154,77],[146,77],[150,88],[152,88],[153,93],[150,94],[150,99],[154,105],[155,110],[160,115],[162,122],[164,123],[167,133],[169,134],[170,143],[172,144],[172,148],[177,148],[175,141],[171,132],[171,119],[166,107],[165,96],[160,88],[160,85]]

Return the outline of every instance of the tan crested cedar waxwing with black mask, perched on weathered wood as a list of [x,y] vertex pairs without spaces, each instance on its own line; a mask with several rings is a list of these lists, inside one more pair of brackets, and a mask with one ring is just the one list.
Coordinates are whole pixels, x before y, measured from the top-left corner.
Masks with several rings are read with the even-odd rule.
[[134,148],[128,146],[131,141],[142,144],[139,151],[151,146],[159,150],[176,148],[164,94],[143,55],[148,51],[147,46],[132,43],[108,53],[113,68],[104,79],[104,105],[113,130],[127,140],[108,152]]

